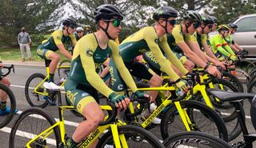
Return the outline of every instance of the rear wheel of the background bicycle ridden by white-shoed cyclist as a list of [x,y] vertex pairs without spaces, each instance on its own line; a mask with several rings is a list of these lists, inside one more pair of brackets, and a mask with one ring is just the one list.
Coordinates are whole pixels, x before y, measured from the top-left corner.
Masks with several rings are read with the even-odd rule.
[[[30,104],[32,107],[40,107],[40,108],[45,108],[50,102],[47,102],[46,99],[44,98],[45,96],[42,94],[34,93],[34,88],[38,86],[42,80],[46,78],[44,74],[40,73],[35,73],[30,76],[30,78],[27,79],[26,85],[25,85],[25,96],[26,96],[26,101]],[[38,91],[40,92],[46,92],[46,89],[44,89],[43,86],[40,86],[38,88]],[[54,93],[52,96],[46,96],[50,97],[52,100],[58,100],[58,98],[61,97],[60,93]]]

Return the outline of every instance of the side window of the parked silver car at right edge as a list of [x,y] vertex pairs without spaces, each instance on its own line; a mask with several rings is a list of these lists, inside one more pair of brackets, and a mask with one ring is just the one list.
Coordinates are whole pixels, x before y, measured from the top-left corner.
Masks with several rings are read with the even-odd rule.
[[256,31],[256,17],[242,18],[236,24],[238,25],[237,32]]

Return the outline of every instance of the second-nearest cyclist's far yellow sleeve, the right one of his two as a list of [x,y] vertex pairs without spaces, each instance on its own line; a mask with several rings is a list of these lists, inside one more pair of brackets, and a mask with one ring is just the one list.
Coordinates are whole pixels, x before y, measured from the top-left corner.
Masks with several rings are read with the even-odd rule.
[[[166,35],[162,38],[162,42],[160,42],[160,46],[162,47],[162,50],[166,53],[166,57],[169,59],[169,61],[178,68],[178,70],[181,70],[182,74],[187,74],[188,71],[186,68],[182,65],[182,62],[180,62],[177,58],[177,56],[170,50],[170,46],[167,43],[167,37]],[[175,73],[175,72],[174,72]],[[176,73],[175,73],[176,74]],[[178,75],[177,75],[178,76]]]

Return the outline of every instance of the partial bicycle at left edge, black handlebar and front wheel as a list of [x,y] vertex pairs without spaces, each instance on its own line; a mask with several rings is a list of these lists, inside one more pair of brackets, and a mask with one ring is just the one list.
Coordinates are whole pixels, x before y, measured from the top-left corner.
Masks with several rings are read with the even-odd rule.
[[[14,65],[11,66],[3,66],[2,67],[2,75],[0,78],[6,77],[10,74],[10,71],[14,72]],[[6,98],[6,107],[10,108],[10,114],[0,115],[0,128],[6,126],[10,120],[14,117],[14,112],[16,110],[16,99],[12,90],[4,84],[0,83],[0,101],[2,98]],[[2,103],[0,102],[0,110],[2,108]]]

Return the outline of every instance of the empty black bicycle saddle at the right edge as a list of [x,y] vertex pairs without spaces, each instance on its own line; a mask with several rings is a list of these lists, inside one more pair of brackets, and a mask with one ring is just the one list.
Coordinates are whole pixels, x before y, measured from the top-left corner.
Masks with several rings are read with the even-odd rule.
[[238,92],[229,92],[226,90],[217,90],[217,89],[208,89],[210,94],[213,94],[215,97],[219,98],[222,102],[238,101],[245,98],[253,99],[256,94],[252,93],[238,93]]

